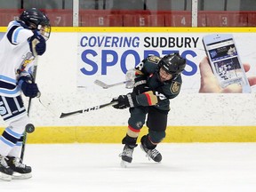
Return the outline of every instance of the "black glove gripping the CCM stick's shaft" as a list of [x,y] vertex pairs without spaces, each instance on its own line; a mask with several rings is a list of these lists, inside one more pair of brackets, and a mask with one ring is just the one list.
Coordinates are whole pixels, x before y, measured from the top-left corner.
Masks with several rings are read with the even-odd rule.
[[127,95],[119,95],[117,98],[111,100],[111,102],[117,102],[113,105],[113,108],[124,109],[124,108],[134,108],[138,106],[136,102],[136,96],[134,93],[128,93]]

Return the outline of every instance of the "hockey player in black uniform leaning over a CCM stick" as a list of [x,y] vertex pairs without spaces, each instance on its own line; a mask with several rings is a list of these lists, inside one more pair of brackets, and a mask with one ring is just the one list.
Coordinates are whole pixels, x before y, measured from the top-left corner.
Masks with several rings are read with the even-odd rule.
[[140,129],[145,123],[148,134],[141,138],[140,148],[155,162],[161,162],[162,155],[156,150],[156,146],[165,137],[170,99],[180,93],[180,74],[185,66],[186,60],[179,53],[165,55],[163,58],[149,56],[135,68],[132,92],[112,100],[117,102],[114,108],[129,108],[131,114],[128,130],[122,140],[122,166],[132,162],[133,149],[137,147]]

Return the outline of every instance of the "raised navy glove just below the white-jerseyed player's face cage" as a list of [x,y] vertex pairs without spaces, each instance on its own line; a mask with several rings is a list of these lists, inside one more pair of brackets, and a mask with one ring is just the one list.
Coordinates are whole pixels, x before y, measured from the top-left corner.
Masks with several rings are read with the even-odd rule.
[[43,55],[46,50],[45,39],[37,30],[34,31],[34,36],[30,39],[30,50],[34,56]]

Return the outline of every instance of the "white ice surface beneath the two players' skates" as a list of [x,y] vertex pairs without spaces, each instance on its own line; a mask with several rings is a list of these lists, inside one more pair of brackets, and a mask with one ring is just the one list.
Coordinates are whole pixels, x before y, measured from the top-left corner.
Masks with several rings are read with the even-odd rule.
[[120,166],[121,144],[26,146],[29,180],[0,180],[1,192],[255,192],[256,143],[163,143],[161,164],[140,147]]

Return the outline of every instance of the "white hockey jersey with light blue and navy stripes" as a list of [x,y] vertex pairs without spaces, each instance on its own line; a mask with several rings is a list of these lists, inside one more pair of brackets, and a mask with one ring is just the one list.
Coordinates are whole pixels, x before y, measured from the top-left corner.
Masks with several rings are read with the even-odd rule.
[[18,21],[9,23],[7,32],[0,40],[0,95],[20,95],[17,81],[20,76],[29,75],[35,59],[28,42],[33,35],[32,30],[23,28]]

